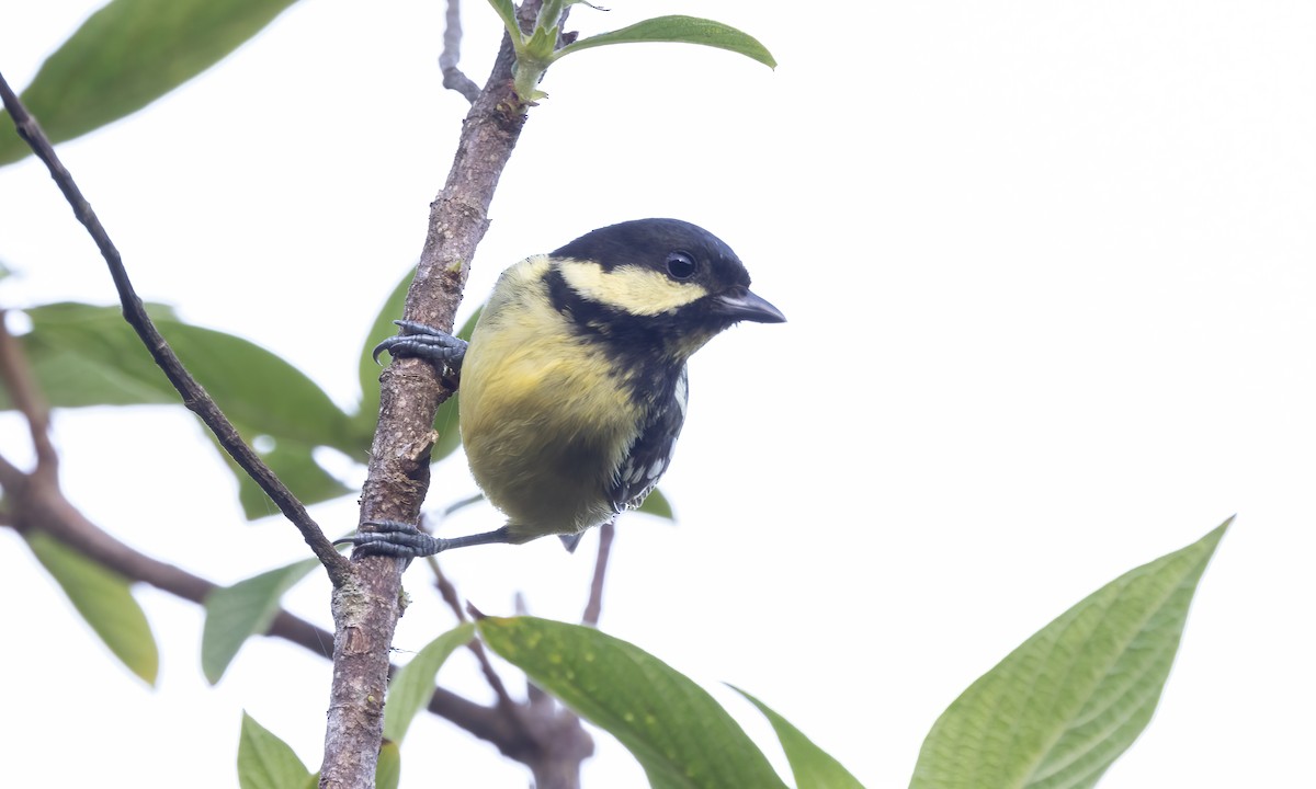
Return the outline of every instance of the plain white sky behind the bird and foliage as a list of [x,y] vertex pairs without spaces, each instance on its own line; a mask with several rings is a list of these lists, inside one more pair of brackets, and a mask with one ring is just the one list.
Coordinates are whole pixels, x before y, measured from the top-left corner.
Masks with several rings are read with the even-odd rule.
[[[25,85],[97,4],[0,5]],[[1066,608],[1233,513],[1152,726],[1103,785],[1294,785],[1311,775],[1316,479],[1316,5],[946,1],[786,9],[636,3],[572,26],[694,13],[780,66],[608,47],[547,76],[492,206],[470,305],[501,268],[644,216],[704,225],[790,318],[692,363],[663,488],[633,515],[603,629],[709,688],[784,764],[755,693],[867,786],[908,784],[936,717]],[[807,8],[807,11],[805,11]],[[441,88],[442,4],[308,0],[146,112],[61,146],[138,291],[355,397],[355,351],[421,249],[466,103]],[[467,0],[463,66],[497,28]],[[0,171],[8,308],[111,302],[105,266],[33,160]],[[204,381],[203,381],[204,383]],[[304,555],[242,521],[182,409],[59,413],[70,497],[221,583]],[[24,459],[21,423],[0,421]],[[358,484],[362,469],[350,471]],[[472,492],[461,462],[434,506]],[[313,514],[333,534],[351,497]],[[475,508],[453,534],[497,523]],[[0,530],[8,677],[0,784],[234,785],[240,710],[318,764],[329,663],[249,643],[217,688],[201,617],[150,589],[158,689],[118,668]],[[596,542],[443,558],[488,613],[576,619]],[[407,576],[399,650],[451,625]],[[328,584],[292,606],[328,626]],[[328,648],[328,646],[326,646]],[[399,658],[401,659],[401,656]],[[488,692],[461,655],[440,679]],[[586,785],[642,785],[608,735]],[[524,786],[426,718],[403,785]]]

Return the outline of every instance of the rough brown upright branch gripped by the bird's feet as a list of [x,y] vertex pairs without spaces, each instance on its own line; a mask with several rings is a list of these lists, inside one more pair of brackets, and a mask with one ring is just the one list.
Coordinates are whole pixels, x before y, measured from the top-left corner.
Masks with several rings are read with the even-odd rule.
[[[520,9],[533,24],[537,0]],[[512,88],[515,55],[504,34],[494,70],[462,125],[447,183],[430,204],[429,230],[404,316],[451,330],[475,247],[488,229],[488,208],[525,124]],[[429,488],[434,413],[451,394],[441,371],[418,359],[393,359],[380,376],[379,425],[361,496],[361,523],[417,522]],[[388,647],[397,618],[404,563],[368,556],[333,596],[334,681],[325,729],[320,786],[366,789],[374,784],[383,736]],[[547,788],[544,788],[547,789]]]

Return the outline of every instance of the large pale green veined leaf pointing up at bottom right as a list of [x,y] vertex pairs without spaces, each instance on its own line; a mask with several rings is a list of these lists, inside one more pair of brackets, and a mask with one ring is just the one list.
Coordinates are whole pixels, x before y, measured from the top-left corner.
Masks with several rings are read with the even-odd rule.
[[1094,786],[1152,719],[1228,526],[1107,584],[979,677],[933,725],[911,788]]

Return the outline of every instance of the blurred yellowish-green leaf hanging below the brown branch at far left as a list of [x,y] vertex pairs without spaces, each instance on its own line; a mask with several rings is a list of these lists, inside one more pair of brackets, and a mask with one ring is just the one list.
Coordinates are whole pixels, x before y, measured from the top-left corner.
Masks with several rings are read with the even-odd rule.
[[37,560],[55,579],[100,640],[105,642],[129,671],[154,685],[159,672],[159,651],[146,613],[129,592],[128,579],[47,534],[32,531],[26,538]]

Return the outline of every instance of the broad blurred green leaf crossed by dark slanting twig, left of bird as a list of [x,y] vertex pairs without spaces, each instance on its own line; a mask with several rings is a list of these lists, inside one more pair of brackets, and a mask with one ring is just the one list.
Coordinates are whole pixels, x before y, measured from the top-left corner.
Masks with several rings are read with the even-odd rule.
[[[182,405],[117,306],[62,302],[24,312],[32,318],[24,350],[50,405]],[[363,450],[351,442],[347,416],[297,368],[249,341],[184,323],[167,308],[149,312],[234,423],[349,454]],[[3,392],[0,408],[13,408]]]

